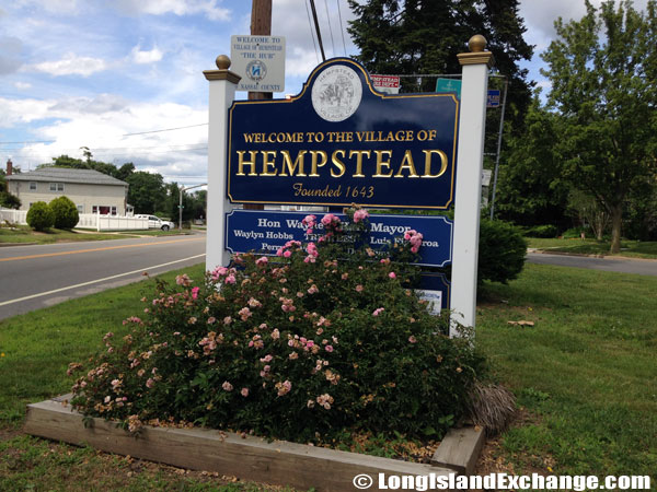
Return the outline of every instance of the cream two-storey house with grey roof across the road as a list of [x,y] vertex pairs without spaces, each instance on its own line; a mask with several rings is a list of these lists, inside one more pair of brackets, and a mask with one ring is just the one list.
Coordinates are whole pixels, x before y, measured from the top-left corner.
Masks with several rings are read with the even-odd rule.
[[128,184],[97,171],[42,167],[14,174],[8,163],[5,179],[9,192],[21,199],[20,210],[64,195],[76,203],[79,213],[126,215]]

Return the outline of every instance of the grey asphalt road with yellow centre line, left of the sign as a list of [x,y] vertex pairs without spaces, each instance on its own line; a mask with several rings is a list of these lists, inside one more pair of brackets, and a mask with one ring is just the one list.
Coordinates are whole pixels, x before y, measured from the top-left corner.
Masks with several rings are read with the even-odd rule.
[[205,234],[0,248],[0,319],[205,261]]

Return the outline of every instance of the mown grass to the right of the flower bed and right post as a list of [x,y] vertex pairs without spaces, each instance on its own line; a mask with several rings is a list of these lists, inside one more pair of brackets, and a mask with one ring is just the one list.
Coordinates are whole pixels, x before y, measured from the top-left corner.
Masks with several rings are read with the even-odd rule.
[[[476,340],[532,418],[503,436],[518,469],[657,470],[657,279],[527,265],[488,284]],[[509,320],[531,320],[518,327]]]

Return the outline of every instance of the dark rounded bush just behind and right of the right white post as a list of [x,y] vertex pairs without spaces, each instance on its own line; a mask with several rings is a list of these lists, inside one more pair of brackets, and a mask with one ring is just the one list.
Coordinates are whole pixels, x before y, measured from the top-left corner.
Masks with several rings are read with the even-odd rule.
[[482,218],[480,222],[477,280],[507,283],[525,266],[527,241],[520,230],[504,221]]

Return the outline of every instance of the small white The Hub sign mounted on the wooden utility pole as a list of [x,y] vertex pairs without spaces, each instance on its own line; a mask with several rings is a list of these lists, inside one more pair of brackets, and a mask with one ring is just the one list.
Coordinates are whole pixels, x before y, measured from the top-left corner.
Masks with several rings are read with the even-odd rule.
[[238,91],[285,91],[284,36],[231,36],[230,58],[242,78]]

